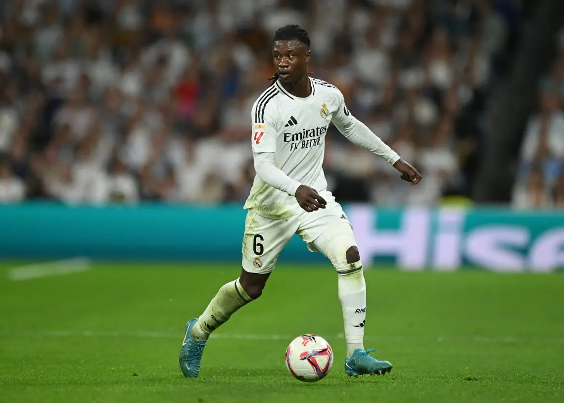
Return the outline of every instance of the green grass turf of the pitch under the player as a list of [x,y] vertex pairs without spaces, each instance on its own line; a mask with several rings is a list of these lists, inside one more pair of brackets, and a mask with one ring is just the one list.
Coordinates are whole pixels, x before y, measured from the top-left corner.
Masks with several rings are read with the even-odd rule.
[[[210,339],[200,378],[185,379],[184,324],[237,276],[235,265],[99,264],[28,281],[10,280],[7,267],[0,402],[564,401],[559,274],[367,271],[365,347],[394,370],[349,379],[336,274],[280,267],[261,299]],[[334,350],[331,373],[315,384],[284,365],[302,333]]]

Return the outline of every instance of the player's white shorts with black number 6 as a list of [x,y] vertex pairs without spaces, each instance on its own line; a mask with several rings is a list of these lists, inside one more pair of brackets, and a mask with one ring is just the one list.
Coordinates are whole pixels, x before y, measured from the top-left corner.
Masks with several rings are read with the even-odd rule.
[[[321,250],[320,247],[316,247],[314,241],[336,225],[338,228],[350,231],[350,239],[354,240],[349,219],[331,192],[320,192],[320,196],[327,201],[325,209],[302,211],[280,220],[265,218],[258,215],[257,211],[249,209],[243,236],[243,268],[246,272],[270,273],[276,265],[280,252],[294,234],[298,234],[312,252]],[[343,223],[348,225],[342,226]],[[327,256],[324,250],[321,252]]]

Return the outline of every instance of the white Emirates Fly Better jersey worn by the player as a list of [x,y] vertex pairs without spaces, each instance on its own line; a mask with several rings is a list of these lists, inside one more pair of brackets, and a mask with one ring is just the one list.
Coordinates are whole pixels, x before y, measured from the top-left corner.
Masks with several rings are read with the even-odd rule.
[[[323,172],[325,135],[329,123],[341,130],[351,116],[340,90],[310,78],[311,94],[298,98],[276,81],[258,97],[252,109],[253,153],[276,153],[275,165],[284,174],[318,193],[327,189]],[[302,212],[294,196],[255,176],[245,209],[271,219]]]

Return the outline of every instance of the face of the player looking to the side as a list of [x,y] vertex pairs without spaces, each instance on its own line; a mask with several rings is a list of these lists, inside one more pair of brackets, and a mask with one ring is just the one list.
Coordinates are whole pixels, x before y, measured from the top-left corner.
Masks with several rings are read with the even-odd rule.
[[307,74],[310,51],[299,41],[276,41],[272,48],[274,67],[283,83],[296,83]]

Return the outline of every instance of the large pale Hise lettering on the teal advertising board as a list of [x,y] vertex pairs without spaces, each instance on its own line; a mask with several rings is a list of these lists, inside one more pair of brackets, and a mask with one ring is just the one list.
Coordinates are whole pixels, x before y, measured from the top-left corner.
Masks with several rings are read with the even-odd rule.
[[[564,227],[558,224],[539,225],[537,219],[516,216],[508,224],[503,215],[450,209],[407,209],[397,214],[372,206],[347,209],[363,263],[390,259],[404,270],[438,271],[465,264],[499,272],[564,267]],[[409,248],[404,247],[406,242]]]

